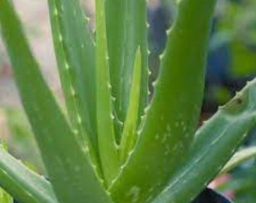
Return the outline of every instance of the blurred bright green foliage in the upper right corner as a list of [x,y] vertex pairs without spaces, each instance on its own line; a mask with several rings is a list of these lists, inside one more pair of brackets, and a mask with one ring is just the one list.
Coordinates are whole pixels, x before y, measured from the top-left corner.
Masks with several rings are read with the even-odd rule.
[[256,72],[256,2],[253,0],[219,1],[216,17],[216,44],[230,46],[232,73],[247,76]]

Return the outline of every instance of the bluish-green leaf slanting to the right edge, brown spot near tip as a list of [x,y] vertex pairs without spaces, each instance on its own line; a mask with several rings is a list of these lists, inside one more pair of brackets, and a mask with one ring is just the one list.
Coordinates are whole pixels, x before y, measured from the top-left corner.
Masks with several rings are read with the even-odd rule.
[[256,124],[256,80],[197,131],[183,166],[154,203],[191,201],[233,155],[247,132]]

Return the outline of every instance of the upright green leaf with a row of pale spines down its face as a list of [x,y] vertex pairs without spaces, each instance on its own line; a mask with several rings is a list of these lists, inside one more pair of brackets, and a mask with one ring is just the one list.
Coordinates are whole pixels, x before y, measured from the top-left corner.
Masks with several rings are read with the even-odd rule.
[[48,0],[53,44],[69,118],[93,162],[96,156],[95,47],[79,0]]

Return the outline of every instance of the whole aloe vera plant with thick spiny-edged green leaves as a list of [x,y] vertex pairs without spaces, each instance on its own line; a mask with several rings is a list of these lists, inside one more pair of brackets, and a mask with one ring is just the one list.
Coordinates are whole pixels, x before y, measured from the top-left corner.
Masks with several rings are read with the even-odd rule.
[[2,38],[48,177],[0,148],[0,186],[26,203],[193,201],[256,117],[253,80],[197,129],[215,0],[178,2],[151,100],[145,0],[96,0],[95,37],[78,0],[48,5],[67,114],[14,5],[0,0]]

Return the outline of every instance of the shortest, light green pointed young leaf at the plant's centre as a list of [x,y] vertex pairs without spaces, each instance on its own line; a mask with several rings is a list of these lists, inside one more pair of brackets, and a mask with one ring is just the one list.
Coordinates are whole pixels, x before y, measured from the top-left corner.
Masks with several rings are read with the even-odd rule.
[[139,95],[142,74],[142,54],[140,48],[136,53],[133,68],[133,83],[130,89],[130,102],[123,127],[123,135],[120,142],[120,162],[124,163],[136,143],[136,129],[139,112]]

